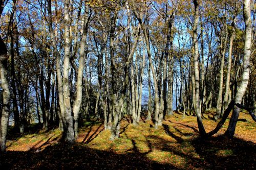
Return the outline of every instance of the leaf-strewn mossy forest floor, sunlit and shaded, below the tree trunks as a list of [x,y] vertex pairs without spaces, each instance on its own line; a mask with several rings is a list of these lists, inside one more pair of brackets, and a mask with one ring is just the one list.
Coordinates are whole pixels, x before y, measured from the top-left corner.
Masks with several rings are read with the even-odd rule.
[[[217,125],[213,114],[204,114],[207,132]],[[74,145],[59,142],[58,129],[34,127],[26,135],[8,136],[0,169],[255,169],[255,122],[241,112],[234,139],[227,139],[222,134],[228,122],[214,137],[200,139],[195,116],[174,112],[158,130],[144,117],[137,127],[124,117],[114,141],[103,122],[87,122]]]

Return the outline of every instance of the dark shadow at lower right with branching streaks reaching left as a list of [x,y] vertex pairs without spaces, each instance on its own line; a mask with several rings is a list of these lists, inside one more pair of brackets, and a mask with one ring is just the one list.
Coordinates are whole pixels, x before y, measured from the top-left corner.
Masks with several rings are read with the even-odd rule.
[[[159,150],[179,155],[186,159],[187,164],[203,169],[255,169],[256,144],[251,141],[239,138],[226,139],[223,136],[208,139],[200,137],[183,139],[170,132],[168,125],[163,125],[163,128],[166,134],[176,139],[180,147],[173,147],[168,140],[157,136],[148,137],[157,138],[157,143],[161,143],[158,146]],[[181,131],[177,132],[182,136],[189,135]],[[182,152],[182,149],[187,148],[188,145],[198,156],[191,154],[191,150]]]

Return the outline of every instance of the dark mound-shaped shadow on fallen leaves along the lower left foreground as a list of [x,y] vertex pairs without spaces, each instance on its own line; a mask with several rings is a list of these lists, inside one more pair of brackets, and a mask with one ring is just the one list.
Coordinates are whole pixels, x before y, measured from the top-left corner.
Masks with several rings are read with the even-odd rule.
[[140,153],[117,154],[81,143],[58,143],[38,153],[9,151],[0,155],[0,161],[0,169],[176,169]]

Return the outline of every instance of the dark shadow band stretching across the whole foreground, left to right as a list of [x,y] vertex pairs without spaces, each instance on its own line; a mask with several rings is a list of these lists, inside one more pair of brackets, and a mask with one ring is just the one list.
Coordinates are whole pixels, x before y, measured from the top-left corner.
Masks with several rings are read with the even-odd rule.
[[[254,169],[256,144],[238,138],[182,139],[166,133],[179,142],[158,135],[146,136],[148,151],[141,153],[136,139],[131,139],[132,152],[115,153],[91,149],[84,143],[58,142],[38,153],[7,151],[0,154],[0,169]],[[182,133],[178,131],[178,133]],[[124,132],[125,134],[125,132]],[[49,140],[48,142],[50,142]],[[147,157],[153,151],[172,155],[171,162],[159,163]],[[157,155],[156,155],[157,156]],[[173,161],[183,159],[184,167]],[[172,164],[171,164],[172,163]]]

